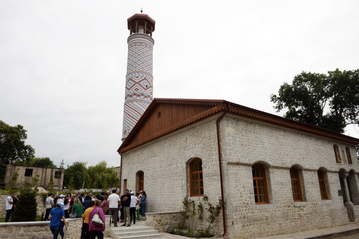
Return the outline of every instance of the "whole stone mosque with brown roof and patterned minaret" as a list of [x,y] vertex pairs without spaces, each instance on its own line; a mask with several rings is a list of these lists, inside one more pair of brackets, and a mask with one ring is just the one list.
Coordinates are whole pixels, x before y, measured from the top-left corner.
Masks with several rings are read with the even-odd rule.
[[155,21],[127,22],[120,189],[146,191],[146,225],[167,230],[184,197],[204,195],[226,202],[225,238],[359,222],[359,139],[225,100],[153,98]]

